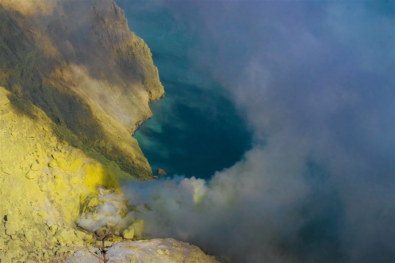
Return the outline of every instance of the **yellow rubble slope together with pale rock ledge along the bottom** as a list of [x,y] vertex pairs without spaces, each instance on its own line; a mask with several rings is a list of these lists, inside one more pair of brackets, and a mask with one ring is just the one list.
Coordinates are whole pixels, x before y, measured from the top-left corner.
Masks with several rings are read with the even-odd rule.
[[[99,262],[87,248],[97,252],[100,239],[76,222],[86,214],[100,217],[95,209],[102,197],[120,193],[132,177],[3,87],[0,142],[0,262]],[[125,205],[125,213],[130,209]],[[173,239],[131,241],[145,237],[141,226],[136,237],[122,238],[136,221],[119,224],[117,235],[106,240],[113,246],[110,262],[216,262]]]

